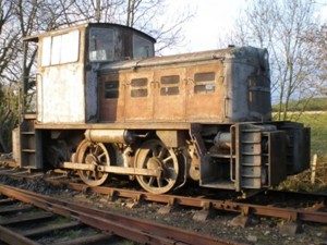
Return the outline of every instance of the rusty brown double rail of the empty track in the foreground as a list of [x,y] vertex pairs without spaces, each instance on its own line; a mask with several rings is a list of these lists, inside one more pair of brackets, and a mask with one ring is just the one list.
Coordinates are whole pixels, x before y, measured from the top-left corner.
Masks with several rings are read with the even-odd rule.
[[78,221],[87,225],[143,244],[240,244],[145,220],[128,218],[121,215],[97,210],[82,205],[58,200],[50,196],[45,196],[7,185],[0,185],[0,193],[21,201],[32,204],[45,210],[49,210],[57,215],[76,218]]

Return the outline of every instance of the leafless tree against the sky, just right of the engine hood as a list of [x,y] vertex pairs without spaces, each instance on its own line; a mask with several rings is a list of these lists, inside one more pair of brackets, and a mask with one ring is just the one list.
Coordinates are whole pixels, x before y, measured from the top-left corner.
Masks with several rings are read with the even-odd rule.
[[[239,45],[268,48],[271,68],[272,99],[279,105],[278,120],[286,120],[291,100],[312,98],[313,82],[322,71],[317,53],[313,62],[312,45],[305,37],[316,26],[313,0],[253,0],[235,22],[231,39]],[[318,83],[315,83],[316,85]]]

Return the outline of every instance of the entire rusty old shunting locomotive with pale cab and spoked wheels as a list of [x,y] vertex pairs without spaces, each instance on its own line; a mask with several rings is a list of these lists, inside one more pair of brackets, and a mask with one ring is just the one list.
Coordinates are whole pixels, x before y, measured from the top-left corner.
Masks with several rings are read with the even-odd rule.
[[265,49],[154,57],[152,37],[101,23],[25,41],[38,42],[38,75],[15,134],[22,168],[93,186],[123,174],[157,194],[189,179],[246,193],[308,168],[310,130],[271,121]]

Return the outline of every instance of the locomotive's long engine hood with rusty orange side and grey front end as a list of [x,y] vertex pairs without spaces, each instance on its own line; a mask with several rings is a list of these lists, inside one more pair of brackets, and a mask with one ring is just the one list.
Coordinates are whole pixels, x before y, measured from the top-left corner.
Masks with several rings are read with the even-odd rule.
[[[262,121],[270,119],[270,96],[268,76],[256,77],[258,52],[249,48],[123,61],[101,66],[101,73],[125,74],[125,121]],[[265,101],[261,110],[253,107],[258,100]]]

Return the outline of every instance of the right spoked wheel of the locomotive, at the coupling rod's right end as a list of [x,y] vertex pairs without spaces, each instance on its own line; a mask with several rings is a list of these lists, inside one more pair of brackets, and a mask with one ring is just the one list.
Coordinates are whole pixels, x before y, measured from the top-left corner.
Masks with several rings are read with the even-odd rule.
[[171,191],[179,175],[179,162],[172,149],[158,139],[145,142],[136,154],[136,168],[161,170],[161,175],[136,176],[140,185],[149,193],[164,194]]

